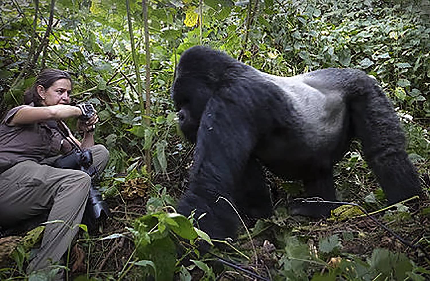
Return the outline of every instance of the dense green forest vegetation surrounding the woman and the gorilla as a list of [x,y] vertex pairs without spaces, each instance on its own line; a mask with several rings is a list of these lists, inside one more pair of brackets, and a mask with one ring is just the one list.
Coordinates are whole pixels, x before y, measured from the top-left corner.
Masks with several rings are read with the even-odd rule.
[[[68,70],[74,73],[73,101],[96,106],[96,142],[110,151],[99,185],[113,216],[98,233],[81,226],[67,259],[71,278],[251,278],[211,255],[181,263],[196,239],[209,239],[169,207],[187,186],[193,150],[177,129],[169,87],[181,52],[197,44],[280,76],[324,67],[375,76],[399,113],[408,153],[429,190],[428,0],[11,0],[0,12],[0,115],[22,103],[43,68]],[[361,211],[322,221],[290,217],[286,192],[299,194],[300,183],[267,175],[275,214],[259,220],[249,235],[243,230],[236,250],[213,250],[218,255],[273,280],[430,278],[421,250],[401,244]],[[335,185],[339,199],[369,212],[384,207],[358,143],[336,165]],[[409,202],[396,207],[374,216],[430,252],[430,200],[418,208]],[[26,276],[40,231],[0,240],[0,279]],[[180,256],[175,243],[184,240],[178,237],[191,244]]]

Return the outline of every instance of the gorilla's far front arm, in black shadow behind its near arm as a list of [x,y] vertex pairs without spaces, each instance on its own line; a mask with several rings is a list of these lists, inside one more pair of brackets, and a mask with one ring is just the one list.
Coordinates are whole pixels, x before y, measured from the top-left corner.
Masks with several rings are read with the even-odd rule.
[[257,159],[249,159],[241,182],[235,186],[233,198],[239,210],[250,219],[270,216],[270,190],[264,183],[263,170]]

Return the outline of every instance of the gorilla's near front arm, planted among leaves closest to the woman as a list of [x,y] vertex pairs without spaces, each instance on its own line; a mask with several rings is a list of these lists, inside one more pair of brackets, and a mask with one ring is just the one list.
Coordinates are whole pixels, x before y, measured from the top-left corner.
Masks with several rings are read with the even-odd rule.
[[[242,179],[258,132],[252,116],[234,102],[212,97],[197,132],[194,165],[188,190],[178,206],[181,214],[197,209],[195,218],[207,213],[199,226],[213,238],[235,235],[238,218],[233,205],[235,183]],[[218,201],[217,201],[218,200]]]

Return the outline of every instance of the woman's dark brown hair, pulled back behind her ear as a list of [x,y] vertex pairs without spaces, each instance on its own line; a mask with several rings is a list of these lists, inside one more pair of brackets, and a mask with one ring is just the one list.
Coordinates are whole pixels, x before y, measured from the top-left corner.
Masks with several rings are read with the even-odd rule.
[[45,69],[43,70],[34,81],[33,86],[24,93],[24,104],[34,103],[34,106],[42,105],[42,98],[37,94],[37,86],[42,85],[43,88],[48,89],[58,79],[69,79],[72,82],[72,78],[69,73],[58,69]]

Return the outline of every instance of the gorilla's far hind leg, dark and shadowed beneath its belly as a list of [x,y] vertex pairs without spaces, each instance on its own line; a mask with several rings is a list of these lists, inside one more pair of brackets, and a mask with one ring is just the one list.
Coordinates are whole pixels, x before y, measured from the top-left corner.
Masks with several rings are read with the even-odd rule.
[[[329,165],[332,164],[329,163]],[[307,197],[319,197],[329,201],[336,200],[333,169],[329,165],[310,170],[309,175],[304,178],[303,183]],[[290,205],[290,213],[307,217],[327,217],[330,215],[330,211],[336,207],[338,205],[328,203],[293,202]]]

